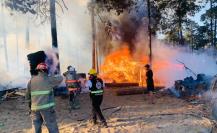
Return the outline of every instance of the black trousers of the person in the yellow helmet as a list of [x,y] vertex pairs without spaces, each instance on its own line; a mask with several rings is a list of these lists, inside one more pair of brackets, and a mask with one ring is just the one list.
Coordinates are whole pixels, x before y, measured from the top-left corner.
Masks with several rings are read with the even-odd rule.
[[100,105],[102,103],[103,100],[103,96],[99,95],[99,96],[90,96],[91,100],[92,100],[92,119],[94,122],[97,121],[97,117],[99,117],[101,122],[106,122],[102,111],[100,109]]

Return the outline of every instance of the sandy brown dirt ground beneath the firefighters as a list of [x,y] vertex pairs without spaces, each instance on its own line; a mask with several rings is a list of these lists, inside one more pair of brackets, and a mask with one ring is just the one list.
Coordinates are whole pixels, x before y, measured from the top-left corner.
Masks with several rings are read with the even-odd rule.
[[[92,125],[88,94],[80,95],[81,109],[69,112],[66,98],[56,97],[60,133],[215,133],[210,110],[168,95],[156,94],[156,104],[147,95],[115,96],[106,89],[102,105],[108,128]],[[23,97],[0,104],[0,133],[30,133],[31,119]],[[43,133],[47,133],[43,127]]]

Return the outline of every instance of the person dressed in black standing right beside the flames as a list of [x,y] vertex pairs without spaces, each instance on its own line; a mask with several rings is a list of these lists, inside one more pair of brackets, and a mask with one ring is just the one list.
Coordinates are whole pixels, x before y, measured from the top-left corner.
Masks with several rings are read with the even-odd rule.
[[154,104],[154,80],[153,80],[153,72],[151,70],[151,67],[149,64],[145,65],[146,68],[146,85],[147,85],[147,90],[148,90],[148,97],[149,97],[149,102]]

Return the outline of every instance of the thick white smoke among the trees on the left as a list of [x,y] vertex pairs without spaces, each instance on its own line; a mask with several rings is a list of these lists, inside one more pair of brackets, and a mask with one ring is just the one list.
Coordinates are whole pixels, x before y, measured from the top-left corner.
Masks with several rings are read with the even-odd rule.
[[[78,72],[87,72],[91,67],[92,46],[88,0],[65,0],[65,3],[68,10],[64,12],[59,5],[56,6],[61,73],[68,65],[74,66]],[[10,85],[8,88],[25,88],[30,79],[30,68],[26,57],[29,53],[45,51],[49,58],[47,62],[50,63],[52,59],[51,73],[55,71],[58,60],[55,56],[56,50],[52,50],[51,46],[49,20],[41,24],[40,18],[35,20],[35,16],[31,14],[11,12],[8,8],[4,8],[3,12],[0,10],[0,15],[4,16],[0,22],[0,85]],[[29,29],[29,45],[26,43],[27,29]],[[4,35],[7,41],[8,68],[3,45]]]

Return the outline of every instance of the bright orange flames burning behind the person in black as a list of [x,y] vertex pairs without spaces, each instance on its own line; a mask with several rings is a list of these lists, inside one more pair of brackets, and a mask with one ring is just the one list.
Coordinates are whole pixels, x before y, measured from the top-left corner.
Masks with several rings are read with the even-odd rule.
[[[106,82],[134,82],[141,86],[146,85],[144,65],[149,61],[147,55],[137,56],[131,54],[127,46],[119,48],[107,55],[101,66],[100,76]],[[165,85],[167,75],[158,75],[161,70],[165,69],[182,69],[183,66],[171,63],[168,60],[154,59],[152,69],[154,72],[155,85]]]

